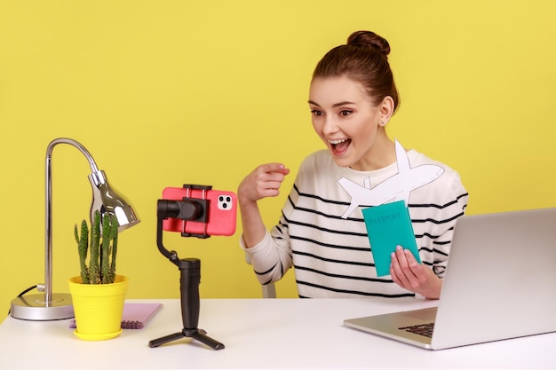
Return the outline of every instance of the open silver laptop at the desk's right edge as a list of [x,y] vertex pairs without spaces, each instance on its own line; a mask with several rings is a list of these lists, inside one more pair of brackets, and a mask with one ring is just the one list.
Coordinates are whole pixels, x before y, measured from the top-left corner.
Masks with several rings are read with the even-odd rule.
[[438,307],[344,326],[430,350],[555,332],[556,208],[459,218]]

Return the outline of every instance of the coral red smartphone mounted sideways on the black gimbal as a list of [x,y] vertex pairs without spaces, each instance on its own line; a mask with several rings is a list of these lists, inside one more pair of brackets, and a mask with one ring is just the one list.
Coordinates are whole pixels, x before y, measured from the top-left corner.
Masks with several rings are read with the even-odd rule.
[[163,199],[165,200],[183,201],[189,198],[207,201],[206,222],[166,218],[163,220],[164,231],[181,232],[184,236],[197,237],[234,235],[237,218],[237,197],[235,193],[213,190],[210,186],[200,185],[184,185],[184,187],[166,187],[163,189]]

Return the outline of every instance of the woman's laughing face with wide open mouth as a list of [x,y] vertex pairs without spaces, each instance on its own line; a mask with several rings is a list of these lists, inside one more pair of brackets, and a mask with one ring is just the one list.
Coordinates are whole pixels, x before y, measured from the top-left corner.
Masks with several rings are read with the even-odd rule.
[[384,104],[375,106],[361,83],[345,76],[314,78],[309,91],[313,127],[338,166],[384,167],[381,151],[389,139],[380,122],[384,126],[391,115]]

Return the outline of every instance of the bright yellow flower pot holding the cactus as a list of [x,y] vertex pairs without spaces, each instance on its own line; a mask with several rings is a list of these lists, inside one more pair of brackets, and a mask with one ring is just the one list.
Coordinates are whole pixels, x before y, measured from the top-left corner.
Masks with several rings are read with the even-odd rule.
[[75,335],[87,341],[112,339],[122,333],[122,313],[128,278],[116,275],[113,284],[82,284],[68,279],[74,304]]

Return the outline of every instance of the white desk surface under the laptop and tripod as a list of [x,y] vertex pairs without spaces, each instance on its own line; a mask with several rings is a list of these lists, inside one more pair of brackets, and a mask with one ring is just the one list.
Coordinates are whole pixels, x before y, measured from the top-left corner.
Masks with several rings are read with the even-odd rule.
[[189,338],[149,348],[182,328],[179,300],[164,304],[147,327],[86,342],[68,320],[6,318],[0,369],[554,369],[556,334],[450,350],[423,350],[343,327],[344,319],[432,306],[433,301],[376,299],[205,299],[199,327],[226,345],[212,350]]

